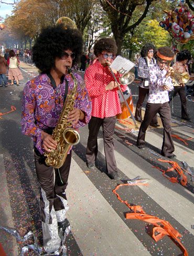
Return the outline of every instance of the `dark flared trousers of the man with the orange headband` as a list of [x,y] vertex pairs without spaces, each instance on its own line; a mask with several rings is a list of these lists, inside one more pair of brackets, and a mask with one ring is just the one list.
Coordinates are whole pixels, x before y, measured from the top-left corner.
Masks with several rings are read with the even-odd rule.
[[163,123],[164,127],[161,154],[164,156],[170,156],[175,151],[175,146],[171,137],[171,113],[168,102],[163,104],[147,103],[144,120],[139,128],[137,145],[143,146],[145,144],[145,134],[147,127],[152,121],[153,116],[155,116],[157,113],[159,113],[161,122]]

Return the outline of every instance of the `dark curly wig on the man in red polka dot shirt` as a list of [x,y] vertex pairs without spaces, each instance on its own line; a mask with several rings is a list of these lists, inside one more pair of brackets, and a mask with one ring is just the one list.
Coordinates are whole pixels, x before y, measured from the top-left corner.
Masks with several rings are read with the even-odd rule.
[[117,53],[116,42],[113,38],[102,37],[94,44],[94,54],[98,57],[103,51],[107,51],[108,53]]

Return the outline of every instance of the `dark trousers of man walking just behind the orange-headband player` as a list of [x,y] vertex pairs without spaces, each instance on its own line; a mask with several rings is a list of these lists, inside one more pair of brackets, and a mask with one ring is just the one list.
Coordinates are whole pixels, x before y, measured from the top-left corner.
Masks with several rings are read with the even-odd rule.
[[[135,110],[135,120],[141,121],[142,120],[142,105],[145,100],[145,96],[149,94],[149,88],[142,88],[139,86],[139,98],[137,101],[136,105],[136,110]],[[157,124],[158,123],[158,118],[157,115],[153,116],[152,122],[150,124]]]

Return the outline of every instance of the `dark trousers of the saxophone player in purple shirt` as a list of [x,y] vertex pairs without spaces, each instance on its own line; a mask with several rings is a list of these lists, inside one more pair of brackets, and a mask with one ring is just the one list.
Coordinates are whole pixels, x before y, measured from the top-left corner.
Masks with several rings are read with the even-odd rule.
[[[41,218],[43,222],[52,223],[51,209],[52,206],[55,211],[64,209],[64,204],[61,199],[67,200],[65,190],[68,185],[68,176],[71,165],[71,151],[67,155],[66,161],[61,166],[61,168],[54,169],[52,166],[47,166],[42,157],[35,152],[35,166],[36,173],[38,177],[38,182],[40,184],[40,211]],[[55,176],[54,176],[55,171]],[[63,183],[61,183],[61,180]],[[46,207],[49,204],[49,208]],[[49,220],[46,216],[49,216]]]

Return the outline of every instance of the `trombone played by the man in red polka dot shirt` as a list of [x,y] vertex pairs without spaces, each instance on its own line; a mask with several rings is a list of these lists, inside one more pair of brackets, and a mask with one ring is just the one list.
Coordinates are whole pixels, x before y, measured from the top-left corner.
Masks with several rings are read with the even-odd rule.
[[[132,117],[132,119],[133,119],[133,123],[134,123],[134,125],[135,125],[135,128],[138,129],[137,123],[135,122],[135,117],[133,116],[133,113],[132,113],[130,107],[128,106],[128,103],[127,103],[127,101],[125,100],[125,97],[124,97],[124,95],[123,95],[123,92],[121,91],[121,87],[120,87],[118,81],[116,80],[116,77],[115,77],[115,75],[114,75],[114,73],[113,73],[113,71],[112,71],[112,68],[111,68],[110,66],[109,66],[109,68],[110,68],[110,70],[111,70],[111,73],[112,73],[112,75],[113,75],[113,77],[114,77],[115,82],[117,83],[118,90],[120,91],[120,93],[121,93],[121,95],[122,95],[122,98],[123,98],[123,100],[124,100],[124,102],[125,102],[125,105],[127,106],[127,109],[128,109],[128,111],[130,112],[130,114],[131,114],[131,117]],[[131,84],[131,83],[134,81],[134,79],[135,79],[135,75],[134,75],[132,72],[128,72],[128,73],[123,74],[123,75],[120,77],[119,80],[120,80],[120,83],[121,83],[122,85],[126,85],[126,84]]]

